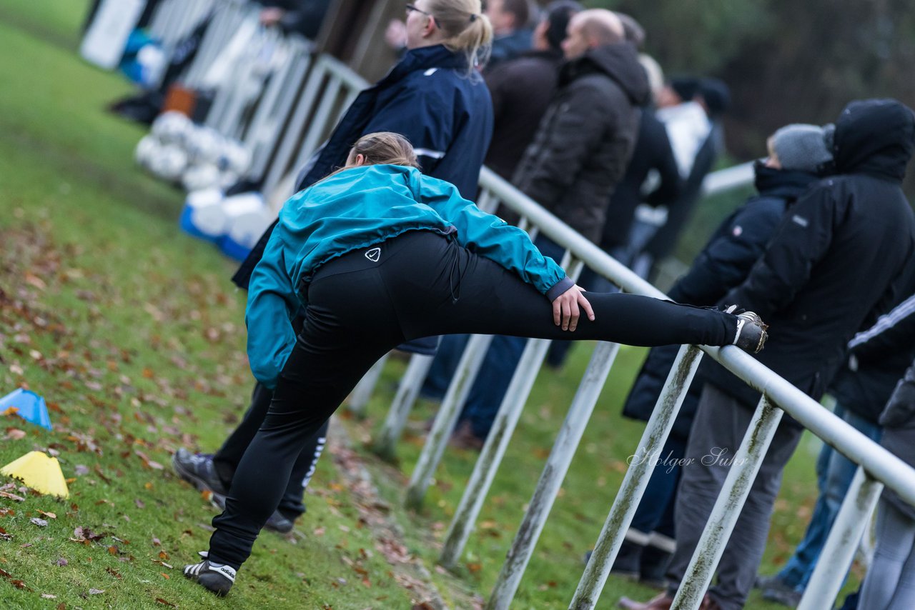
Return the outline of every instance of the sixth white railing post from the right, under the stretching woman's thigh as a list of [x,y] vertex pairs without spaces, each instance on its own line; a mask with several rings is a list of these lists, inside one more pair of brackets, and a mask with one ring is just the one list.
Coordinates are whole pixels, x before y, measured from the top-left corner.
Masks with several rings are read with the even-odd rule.
[[425,438],[423,452],[419,455],[419,460],[410,477],[410,485],[406,490],[405,504],[408,508],[419,508],[423,505],[425,490],[432,482],[432,476],[436,472],[438,462],[445,453],[445,445],[454,430],[455,423],[458,423],[461,407],[467,399],[470,387],[474,380],[477,379],[479,367],[486,358],[486,352],[492,342],[491,335],[474,335],[470,337],[464,355],[461,356],[458,363],[458,370],[448,386],[442,405],[438,408],[436,422],[432,424],[432,430]]

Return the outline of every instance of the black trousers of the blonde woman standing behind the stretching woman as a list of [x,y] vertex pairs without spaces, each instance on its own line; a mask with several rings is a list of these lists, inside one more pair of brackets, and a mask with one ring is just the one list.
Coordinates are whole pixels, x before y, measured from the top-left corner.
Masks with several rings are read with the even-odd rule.
[[[213,455],[213,466],[216,466],[216,473],[220,476],[222,483],[227,489],[231,489],[232,479],[235,477],[235,471],[242,461],[244,452],[248,450],[248,445],[254,440],[254,435],[264,423],[267,411],[270,409],[270,401],[274,398],[274,392],[260,383],[254,386],[251,394],[251,406],[244,413],[242,423],[229,435],[229,438],[220,447],[220,450]],[[328,423],[325,422],[321,429],[314,436],[309,438],[302,445],[301,453],[296,457],[296,463],[292,467],[292,473],[286,484],[283,498],[280,499],[279,511],[286,519],[293,521],[299,515],[305,512],[305,503],[302,496],[305,494],[305,488],[308,487],[308,481],[315,474],[315,468],[318,466],[318,458],[324,450],[324,444],[328,436]]]

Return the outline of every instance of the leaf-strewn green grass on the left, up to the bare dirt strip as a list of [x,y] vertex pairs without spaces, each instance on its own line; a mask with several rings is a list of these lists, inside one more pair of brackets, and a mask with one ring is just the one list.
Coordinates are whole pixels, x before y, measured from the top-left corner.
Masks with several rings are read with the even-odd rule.
[[215,448],[246,404],[243,295],[179,232],[178,191],[135,167],[143,130],[103,112],[131,88],[76,57],[85,4],[0,9],[0,391],[38,391],[55,425],[5,418],[0,464],[50,449],[70,478],[67,500],[0,498],[0,607],[409,607],[329,459],[298,535],[264,534],[231,603],[180,576],[215,509],[169,455]]

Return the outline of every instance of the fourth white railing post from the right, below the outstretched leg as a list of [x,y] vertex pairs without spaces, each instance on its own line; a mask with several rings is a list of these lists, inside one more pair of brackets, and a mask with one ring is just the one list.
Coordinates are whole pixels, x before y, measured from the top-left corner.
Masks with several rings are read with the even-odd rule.
[[524,513],[522,524],[511,543],[511,549],[492,589],[490,601],[486,606],[489,610],[506,610],[511,607],[511,600],[518,590],[518,584],[521,583],[524,568],[531,559],[531,553],[540,537],[540,532],[544,530],[544,524],[550,514],[550,508],[553,508],[556,493],[563,483],[578,442],[585,433],[587,421],[591,417],[591,412],[594,411],[597,397],[604,387],[604,382],[607,380],[610,367],[613,366],[613,360],[616,359],[618,352],[619,344],[617,343],[603,341],[597,343],[591,361],[587,365],[585,376],[572,400],[572,406],[569,407],[569,412],[565,416],[565,422],[556,436],[553,451],[546,460],[544,472],[537,481],[537,487],[533,490],[530,507]]

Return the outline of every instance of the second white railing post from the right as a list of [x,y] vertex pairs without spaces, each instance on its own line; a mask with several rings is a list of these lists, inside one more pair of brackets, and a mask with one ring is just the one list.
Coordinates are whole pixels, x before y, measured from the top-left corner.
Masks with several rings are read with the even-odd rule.
[[702,603],[783,414],[765,395],[759,399],[672,607],[697,610]]

